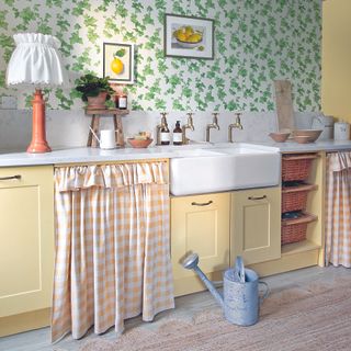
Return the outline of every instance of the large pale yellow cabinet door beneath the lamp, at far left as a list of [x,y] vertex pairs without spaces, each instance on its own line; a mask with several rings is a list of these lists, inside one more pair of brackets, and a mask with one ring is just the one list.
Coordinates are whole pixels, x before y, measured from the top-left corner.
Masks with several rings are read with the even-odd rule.
[[0,317],[49,307],[53,167],[0,168]]

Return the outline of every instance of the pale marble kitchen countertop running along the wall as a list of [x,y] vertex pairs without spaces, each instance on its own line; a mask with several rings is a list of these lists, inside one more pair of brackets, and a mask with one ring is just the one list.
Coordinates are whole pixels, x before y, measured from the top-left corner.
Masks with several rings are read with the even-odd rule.
[[[351,140],[346,141],[317,141],[310,144],[297,144],[295,141],[286,143],[236,143],[235,145],[260,145],[273,147],[280,152],[312,152],[312,151],[337,151],[351,149]],[[27,154],[27,152],[7,152],[0,154],[0,167],[11,166],[38,166],[38,165],[60,165],[78,162],[103,162],[103,161],[124,161],[135,159],[157,159],[179,157],[174,150],[182,149],[215,149],[233,146],[229,143],[218,144],[193,144],[186,146],[156,146],[146,149],[113,149],[101,150],[99,148],[66,148],[54,149],[47,154]]]

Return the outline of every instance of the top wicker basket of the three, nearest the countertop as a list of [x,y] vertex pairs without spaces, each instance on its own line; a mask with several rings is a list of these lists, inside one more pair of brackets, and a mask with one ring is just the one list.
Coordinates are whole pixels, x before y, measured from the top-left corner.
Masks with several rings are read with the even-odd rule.
[[284,155],[282,162],[282,180],[306,180],[309,176],[312,161],[316,154]]

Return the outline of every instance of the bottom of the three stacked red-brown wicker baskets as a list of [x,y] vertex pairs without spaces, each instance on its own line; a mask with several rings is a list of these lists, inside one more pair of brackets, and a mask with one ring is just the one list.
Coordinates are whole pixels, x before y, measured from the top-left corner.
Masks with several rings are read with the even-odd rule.
[[282,219],[282,245],[305,240],[308,223],[316,219],[317,216],[307,213],[299,218]]

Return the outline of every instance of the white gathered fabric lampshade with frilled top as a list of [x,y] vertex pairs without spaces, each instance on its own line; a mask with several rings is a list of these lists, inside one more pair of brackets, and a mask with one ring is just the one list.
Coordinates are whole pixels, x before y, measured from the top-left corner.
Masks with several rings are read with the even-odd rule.
[[35,88],[68,84],[67,71],[58,52],[59,41],[52,35],[22,33],[13,35],[16,47],[7,70],[9,86]]

